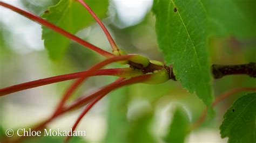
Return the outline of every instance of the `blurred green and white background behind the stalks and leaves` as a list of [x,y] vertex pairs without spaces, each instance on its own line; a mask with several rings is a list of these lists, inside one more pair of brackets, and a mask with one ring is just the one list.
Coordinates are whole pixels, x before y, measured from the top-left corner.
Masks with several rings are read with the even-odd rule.
[[[19,8],[41,15],[57,0],[8,0],[4,1]],[[108,17],[103,19],[118,46],[127,53],[147,56],[163,61],[159,51],[155,18],[151,12],[153,0],[112,0]],[[83,71],[104,58],[90,49],[70,42],[64,58],[51,61],[41,40],[41,25],[0,7],[0,88],[10,85]],[[92,44],[111,51],[111,47],[98,24],[94,23],[77,35]],[[209,48],[212,64],[241,64],[256,61],[255,39],[211,37]],[[106,68],[125,67],[113,63]],[[114,81],[116,77],[90,77],[72,96],[90,92]],[[0,98],[0,127],[25,128],[49,117],[55,109],[66,87],[72,81],[65,81],[43,87],[24,90]],[[255,80],[246,75],[226,76],[212,80],[214,96],[237,87],[252,87]],[[193,130],[186,142],[226,142],[219,135],[223,115],[235,99],[246,92],[235,94],[215,108],[215,118],[207,119]],[[134,84],[108,94],[87,113],[77,130],[86,131],[85,142],[163,142],[161,139],[169,130],[173,111],[183,106],[191,123],[198,119],[205,105],[194,94],[190,94],[177,81],[159,85]],[[69,130],[77,119],[77,110],[61,116],[48,128]],[[33,139],[34,140],[34,139]],[[29,140],[28,140],[29,141]],[[31,141],[31,140],[30,140]],[[82,141],[82,142],[83,142]]]

